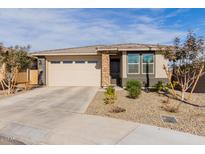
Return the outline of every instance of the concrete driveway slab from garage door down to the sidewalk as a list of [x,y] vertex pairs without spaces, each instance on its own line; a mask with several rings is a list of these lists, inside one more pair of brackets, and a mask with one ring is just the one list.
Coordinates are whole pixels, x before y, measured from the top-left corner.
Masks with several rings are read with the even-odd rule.
[[0,110],[17,113],[18,111],[38,113],[53,110],[84,113],[96,91],[96,87],[38,88],[0,100]]

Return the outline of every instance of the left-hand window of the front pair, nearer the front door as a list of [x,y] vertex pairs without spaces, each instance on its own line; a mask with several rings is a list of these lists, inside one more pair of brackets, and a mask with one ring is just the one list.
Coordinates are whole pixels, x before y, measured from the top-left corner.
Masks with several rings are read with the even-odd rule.
[[139,64],[140,56],[139,54],[128,54],[128,73],[129,74],[139,74]]

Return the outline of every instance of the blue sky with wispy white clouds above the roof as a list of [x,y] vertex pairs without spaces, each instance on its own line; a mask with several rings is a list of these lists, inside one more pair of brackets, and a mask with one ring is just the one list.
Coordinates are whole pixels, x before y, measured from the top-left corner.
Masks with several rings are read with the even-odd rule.
[[0,9],[0,42],[46,50],[205,37],[205,9]]

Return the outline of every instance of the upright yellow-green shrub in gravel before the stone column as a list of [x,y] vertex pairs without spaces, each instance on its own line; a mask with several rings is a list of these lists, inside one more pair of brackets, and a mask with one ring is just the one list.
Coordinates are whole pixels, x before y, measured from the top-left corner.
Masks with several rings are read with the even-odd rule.
[[104,103],[105,104],[113,104],[115,103],[115,100],[117,99],[117,95],[115,92],[115,88],[113,86],[108,86],[106,88],[106,91],[104,93],[105,98],[104,98]]

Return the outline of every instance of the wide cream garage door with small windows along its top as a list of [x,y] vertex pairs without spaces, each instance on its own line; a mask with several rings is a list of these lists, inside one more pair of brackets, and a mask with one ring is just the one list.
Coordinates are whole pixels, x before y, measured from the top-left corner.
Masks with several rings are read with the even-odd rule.
[[52,58],[48,65],[49,86],[100,86],[99,57]]

